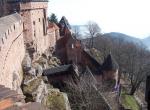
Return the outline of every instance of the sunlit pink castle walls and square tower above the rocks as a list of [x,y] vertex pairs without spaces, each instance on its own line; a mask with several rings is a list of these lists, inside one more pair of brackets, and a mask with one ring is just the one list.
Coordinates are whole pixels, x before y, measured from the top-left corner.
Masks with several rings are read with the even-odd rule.
[[21,62],[26,49],[33,48],[35,57],[49,47],[55,47],[59,29],[48,24],[47,2],[0,1],[0,16],[4,16],[0,18],[0,84],[14,88],[16,85],[12,84],[13,76],[17,76],[16,81],[21,83]]

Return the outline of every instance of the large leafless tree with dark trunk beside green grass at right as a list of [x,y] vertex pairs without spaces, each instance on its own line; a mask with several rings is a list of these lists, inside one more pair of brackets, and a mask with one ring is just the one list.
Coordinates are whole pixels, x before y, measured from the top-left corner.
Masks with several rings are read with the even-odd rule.
[[131,43],[126,46],[125,50],[126,58],[124,61],[126,65],[124,65],[124,68],[131,84],[129,94],[133,95],[150,73],[150,57],[145,48]]

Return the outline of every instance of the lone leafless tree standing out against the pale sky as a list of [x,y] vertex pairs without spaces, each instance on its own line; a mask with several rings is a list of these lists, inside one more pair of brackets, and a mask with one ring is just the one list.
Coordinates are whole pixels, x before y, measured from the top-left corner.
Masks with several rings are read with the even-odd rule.
[[91,38],[90,39],[90,42],[89,42],[89,47],[90,48],[93,48],[93,44],[94,44],[94,37],[97,35],[97,34],[100,34],[101,33],[101,29],[100,27],[98,26],[98,24],[96,22],[93,22],[93,21],[89,21],[87,23],[87,31],[88,31],[88,35],[89,37]]

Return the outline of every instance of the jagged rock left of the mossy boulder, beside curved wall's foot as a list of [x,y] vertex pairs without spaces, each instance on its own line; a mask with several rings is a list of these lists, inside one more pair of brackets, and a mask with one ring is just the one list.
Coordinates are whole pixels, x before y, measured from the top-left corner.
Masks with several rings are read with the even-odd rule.
[[23,85],[23,93],[26,96],[26,101],[42,102],[44,96],[47,94],[46,84],[42,77],[26,76],[28,79]]

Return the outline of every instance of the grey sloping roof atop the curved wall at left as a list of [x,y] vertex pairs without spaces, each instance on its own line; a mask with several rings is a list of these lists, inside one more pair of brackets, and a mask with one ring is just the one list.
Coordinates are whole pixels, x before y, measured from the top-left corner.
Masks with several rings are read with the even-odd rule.
[[0,38],[5,32],[10,29],[12,25],[17,22],[21,22],[21,16],[18,13],[14,13],[0,18]]

